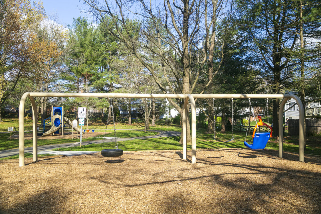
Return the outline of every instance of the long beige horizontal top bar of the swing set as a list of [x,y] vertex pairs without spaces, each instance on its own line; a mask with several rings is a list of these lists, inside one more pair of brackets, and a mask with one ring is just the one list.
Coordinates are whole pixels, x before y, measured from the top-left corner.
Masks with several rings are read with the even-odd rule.
[[[43,93],[31,97],[121,97],[121,98],[187,98],[187,94],[122,94],[122,93]],[[290,94],[192,94],[194,98],[291,98]]]

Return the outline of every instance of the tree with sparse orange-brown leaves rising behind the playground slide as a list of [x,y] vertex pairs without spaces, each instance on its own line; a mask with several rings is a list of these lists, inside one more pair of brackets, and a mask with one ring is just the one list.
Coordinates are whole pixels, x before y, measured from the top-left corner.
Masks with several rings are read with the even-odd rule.
[[[67,32],[52,19],[45,19],[30,32],[30,63],[33,72],[30,81],[39,92],[51,92],[58,88],[60,74],[65,70]],[[33,89],[34,90],[34,89]],[[40,102],[41,121],[46,118],[48,97],[36,98]]]

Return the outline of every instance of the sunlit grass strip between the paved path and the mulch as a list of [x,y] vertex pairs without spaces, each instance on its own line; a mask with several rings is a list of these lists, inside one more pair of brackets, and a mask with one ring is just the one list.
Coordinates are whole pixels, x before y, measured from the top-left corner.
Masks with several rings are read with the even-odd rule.
[[[196,148],[197,149],[218,149],[218,148],[246,148],[244,146],[244,138],[245,134],[243,133],[234,133],[234,141],[230,141],[227,143],[222,143],[219,141],[213,140],[212,134],[205,134],[204,131],[198,131],[196,133]],[[220,141],[227,141],[231,139],[231,134],[221,134],[218,133],[218,138]],[[152,138],[152,139],[141,139],[141,140],[131,140],[131,141],[120,141],[118,142],[118,148],[126,151],[130,150],[181,150],[182,145],[178,143],[180,137],[165,137],[165,138]],[[252,138],[248,136],[247,142],[251,143]],[[108,145],[104,145],[104,148],[113,148],[114,145],[112,143],[108,143]],[[59,148],[55,150],[63,150],[63,151],[101,151],[102,144],[90,144],[76,147],[68,147],[68,148]],[[278,150],[279,143],[278,141],[271,139],[267,146],[267,149]],[[191,149],[191,145],[187,145],[187,149]],[[283,150],[290,152],[298,152],[299,145],[296,143],[283,143]],[[321,148],[310,146],[307,142],[307,147],[304,151],[306,154],[314,154],[321,155]]]

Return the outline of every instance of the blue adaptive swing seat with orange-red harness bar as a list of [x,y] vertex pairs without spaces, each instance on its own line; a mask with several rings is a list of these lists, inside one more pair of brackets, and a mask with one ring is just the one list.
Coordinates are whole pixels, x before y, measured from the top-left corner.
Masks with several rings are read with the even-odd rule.
[[[270,139],[270,137],[272,136],[272,127],[269,126],[268,124],[265,124],[262,121],[261,116],[257,116],[257,118],[259,119],[259,122],[257,123],[257,125],[255,125],[254,131],[253,131],[253,143],[252,145],[248,144],[246,141],[244,141],[244,146],[246,146],[247,148],[251,149],[251,150],[263,150],[266,146],[267,141]],[[270,128],[270,132],[261,132],[261,133],[255,133],[256,128],[258,125],[265,125],[268,128]]]

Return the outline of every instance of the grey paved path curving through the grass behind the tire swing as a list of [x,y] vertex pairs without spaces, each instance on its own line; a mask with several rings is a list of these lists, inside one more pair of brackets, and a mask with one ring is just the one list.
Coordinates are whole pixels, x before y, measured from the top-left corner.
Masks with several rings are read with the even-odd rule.
[[[113,130],[113,129],[112,129]],[[143,131],[141,129],[117,129],[117,130],[135,130],[135,131]],[[180,136],[180,132],[175,132],[175,131],[160,131],[160,130],[148,130],[151,132],[158,132],[156,135],[152,136],[145,136],[145,137],[130,137],[130,138],[117,138],[117,141],[128,141],[128,140],[134,140],[134,139],[148,139],[148,138],[160,138],[160,137],[173,137],[173,136]],[[103,137],[102,137],[103,138]],[[113,142],[115,141],[115,138],[113,137],[106,137],[105,142]],[[96,140],[96,141],[83,141],[82,146],[84,145],[89,145],[93,143],[103,143],[104,140]],[[48,150],[53,150],[56,148],[63,148],[63,147],[73,147],[73,146],[79,146],[80,142],[75,142],[75,143],[60,143],[60,144],[51,144],[51,145],[45,145],[45,146],[38,146],[38,154],[48,154],[48,153],[43,153],[43,151],[48,151]],[[32,153],[32,147],[26,147],[24,148],[25,153]],[[57,151],[58,152],[58,151]],[[67,153],[68,151],[64,151]],[[72,155],[75,155],[76,151],[71,151],[70,153]],[[12,150],[1,150],[0,151],[0,158],[5,158],[9,157],[12,155],[17,155],[19,154],[19,149],[12,149]],[[81,153],[79,153],[81,154]],[[68,154],[64,154],[68,155]]]

